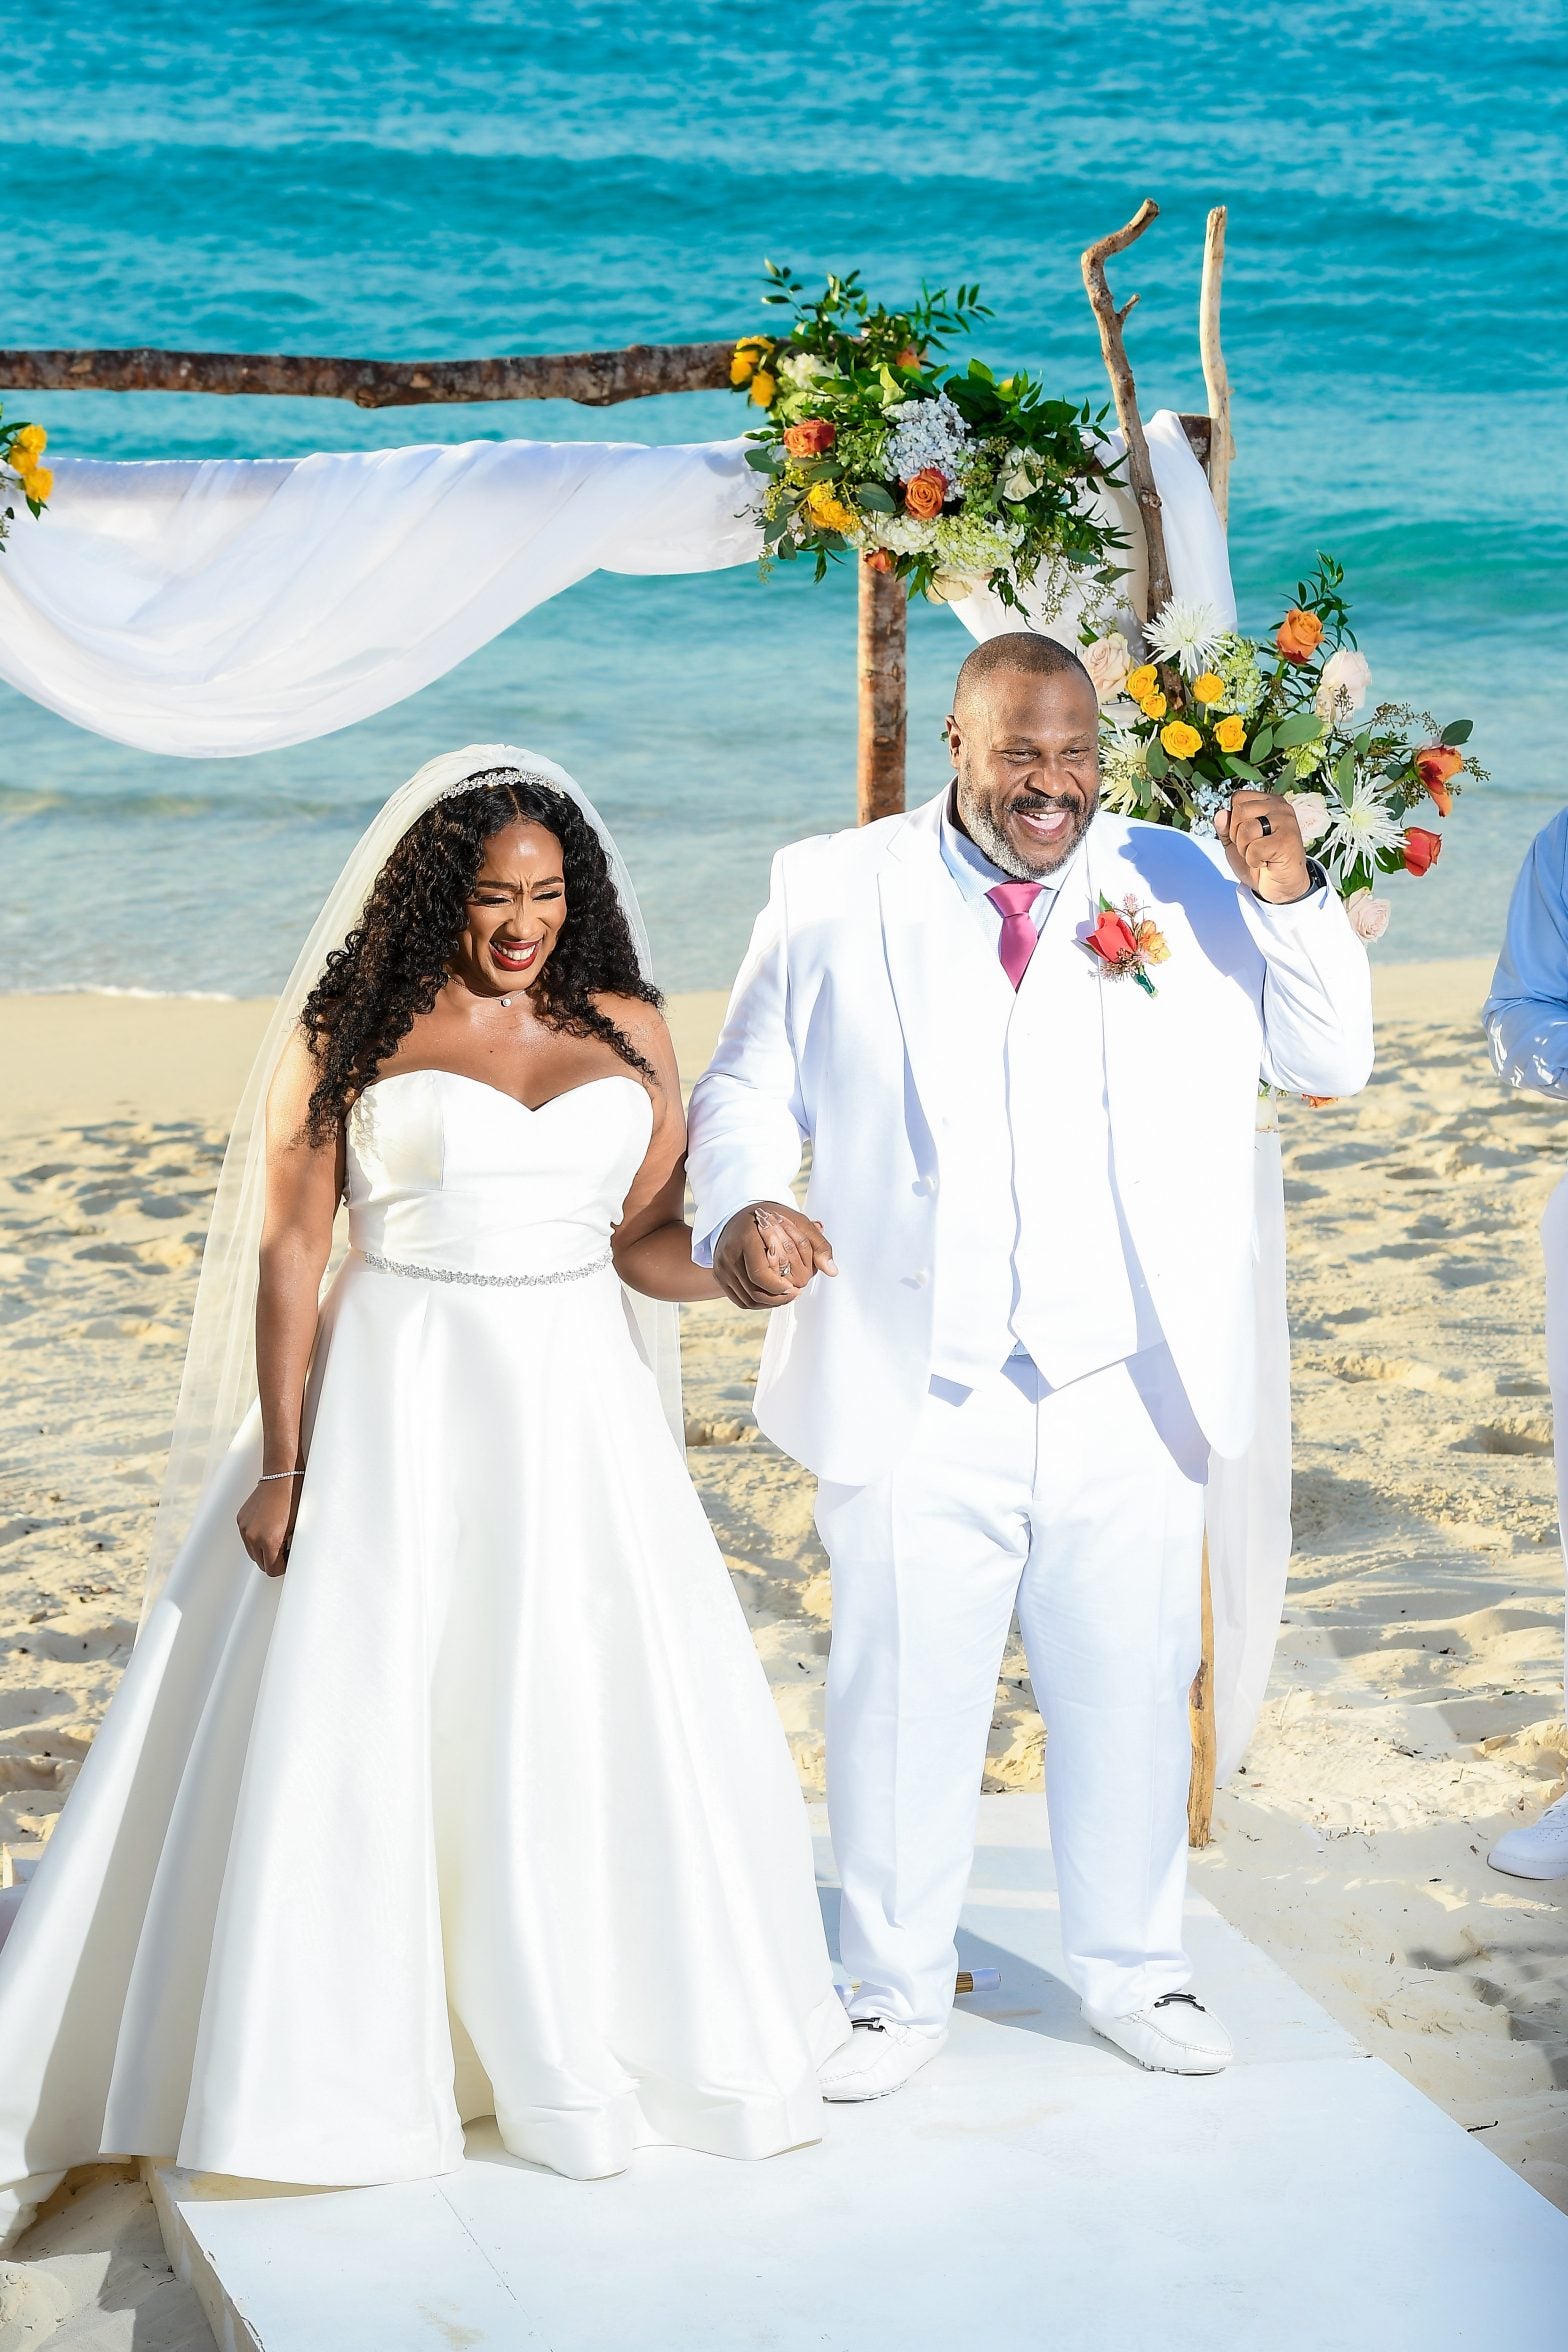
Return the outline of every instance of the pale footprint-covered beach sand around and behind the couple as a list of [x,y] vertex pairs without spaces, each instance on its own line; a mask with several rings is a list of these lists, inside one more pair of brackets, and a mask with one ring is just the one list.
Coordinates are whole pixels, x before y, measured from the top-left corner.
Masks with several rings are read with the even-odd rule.
[[[1490,1075],[1486,978],[1380,969],[1373,1084],[1286,1110],[1298,1545],[1265,1717],[1194,1884],[1568,2209],[1568,1882],[1483,1858],[1568,1766],[1535,1240],[1566,1152],[1559,1108]],[[672,1004],[684,1070],[719,1011]],[[207,1200],[263,1021],[263,1004],[0,1000],[0,1839],[19,1856],[47,1837],[132,1642]],[[686,1310],[689,1458],[818,1795],[827,1566],[811,1482],[750,1416],[759,1341],[755,1317]],[[987,1788],[1039,1785],[1041,1757],[1013,1642]],[[99,2293],[82,2234],[125,2270],[146,2220],[108,2173],[56,2206],[21,2249],[40,2256],[26,2281],[0,2270],[0,2340],[7,2296]],[[167,2296],[136,2343],[200,2343],[179,2333],[183,2288]]]

